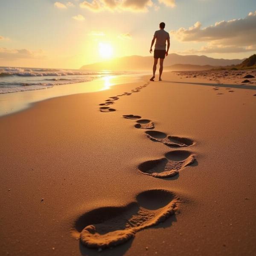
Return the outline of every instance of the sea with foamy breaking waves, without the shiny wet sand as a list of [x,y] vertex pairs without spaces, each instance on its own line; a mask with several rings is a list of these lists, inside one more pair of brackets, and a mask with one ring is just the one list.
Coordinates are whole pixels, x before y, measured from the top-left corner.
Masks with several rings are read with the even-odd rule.
[[0,67],[0,93],[47,89],[56,85],[76,84],[92,81],[103,76],[121,74],[124,74],[124,72],[110,73],[108,71],[87,72],[67,69]]

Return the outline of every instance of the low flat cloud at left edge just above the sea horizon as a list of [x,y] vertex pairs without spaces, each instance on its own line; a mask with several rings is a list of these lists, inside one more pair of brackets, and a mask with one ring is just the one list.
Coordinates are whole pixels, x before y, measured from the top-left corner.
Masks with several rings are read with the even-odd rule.
[[4,60],[16,60],[16,59],[42,59],[45,56],[42,55],[42,51],[29,51],[27,49],[7,49],[0,48],[0,59]]

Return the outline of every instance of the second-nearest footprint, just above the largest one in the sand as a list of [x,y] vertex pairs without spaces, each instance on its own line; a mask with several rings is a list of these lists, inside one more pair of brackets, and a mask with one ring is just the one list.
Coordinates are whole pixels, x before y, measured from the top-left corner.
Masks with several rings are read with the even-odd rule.
[[156,178],[173,177],[186,166],[195,161],[195,155],[189,151],[175,150],[165,154],[157,160],[141,163],[138,169],[145,175]]

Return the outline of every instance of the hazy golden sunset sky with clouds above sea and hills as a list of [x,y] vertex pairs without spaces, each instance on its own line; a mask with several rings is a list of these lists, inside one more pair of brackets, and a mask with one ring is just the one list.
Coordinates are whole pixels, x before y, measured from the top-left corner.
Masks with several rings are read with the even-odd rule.
[[148,56],[160,22],[169,53],[256,52],[256,0],[0,0],[0,66],[77,69]]

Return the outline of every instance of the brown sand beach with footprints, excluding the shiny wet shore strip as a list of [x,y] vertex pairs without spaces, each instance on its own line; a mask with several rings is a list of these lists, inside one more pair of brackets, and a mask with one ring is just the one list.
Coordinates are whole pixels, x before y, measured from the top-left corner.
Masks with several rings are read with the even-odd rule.
[[0,254],[256,255],[256,86],[180,76],[0,118]]

